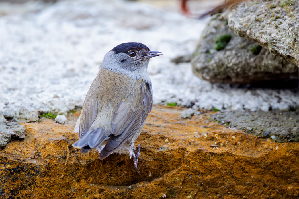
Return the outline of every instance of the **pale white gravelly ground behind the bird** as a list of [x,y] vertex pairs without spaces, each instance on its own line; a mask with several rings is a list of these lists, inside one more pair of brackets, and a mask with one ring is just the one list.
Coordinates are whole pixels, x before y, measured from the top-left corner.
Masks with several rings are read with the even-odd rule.
[[37,120],[38,111],[64,114],[82,107],[103,56],[123,42],[141,42],[164,55],[148,72],[155,104],[176,102],[201,109],[289,109],[289,90],[232,89],[200,80],[191,64],[171,58],[190,54],[205,20],[129,1],[68,0],[56,4],[0,4],[0,114]]

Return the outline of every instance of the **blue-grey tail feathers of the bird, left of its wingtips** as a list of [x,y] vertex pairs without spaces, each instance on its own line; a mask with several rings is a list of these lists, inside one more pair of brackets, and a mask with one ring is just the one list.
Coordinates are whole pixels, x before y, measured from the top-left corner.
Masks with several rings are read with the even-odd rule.
[[82,153],[86,153],[91,149],[97,148],[106,139],[106,131],[104,129],[96,129],[87,132],[82,138],[73,144],[76,148],[81,148]]

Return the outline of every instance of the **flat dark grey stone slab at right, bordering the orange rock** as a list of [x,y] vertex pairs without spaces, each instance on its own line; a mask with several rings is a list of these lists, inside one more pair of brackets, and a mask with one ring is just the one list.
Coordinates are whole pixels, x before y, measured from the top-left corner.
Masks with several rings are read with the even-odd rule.
[[287,111],[225,111],[211,115],[211,119],[259,138],[276,137],[279,142],[299,141],[299,113]]

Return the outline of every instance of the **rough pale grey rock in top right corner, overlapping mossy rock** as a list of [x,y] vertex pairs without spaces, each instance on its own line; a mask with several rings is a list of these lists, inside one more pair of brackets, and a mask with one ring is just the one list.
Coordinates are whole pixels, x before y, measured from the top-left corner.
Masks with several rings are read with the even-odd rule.
[[237,35],[299,66],[299,1],[244,2],[226,10],[222,18]]

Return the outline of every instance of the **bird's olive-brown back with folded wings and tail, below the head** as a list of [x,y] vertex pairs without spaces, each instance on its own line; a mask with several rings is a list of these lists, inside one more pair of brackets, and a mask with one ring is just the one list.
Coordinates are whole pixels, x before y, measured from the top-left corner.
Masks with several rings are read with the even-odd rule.
[[82,152],[100,147],[100,159],[124,144],[130,148],[151,109],[150,81],[101,68],[86,95],[79,118],[80,139],[73,146]]

